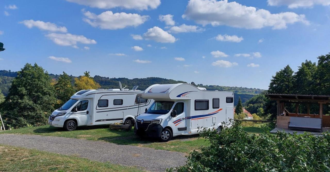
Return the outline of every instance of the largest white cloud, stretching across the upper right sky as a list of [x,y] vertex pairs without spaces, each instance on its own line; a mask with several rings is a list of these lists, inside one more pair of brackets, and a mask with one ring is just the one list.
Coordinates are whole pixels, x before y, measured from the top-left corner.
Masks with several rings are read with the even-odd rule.
[[182,17],[202,25],[227,25],[247,29],[267,26],[273,29],[285,29],[287,24],[296,22],[309,24],[303,14],[298,15],[293,12],[271,14],[264,9],[247,7],[228,0],[190,0]]

